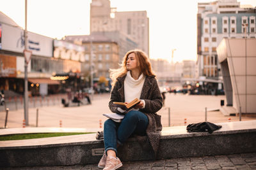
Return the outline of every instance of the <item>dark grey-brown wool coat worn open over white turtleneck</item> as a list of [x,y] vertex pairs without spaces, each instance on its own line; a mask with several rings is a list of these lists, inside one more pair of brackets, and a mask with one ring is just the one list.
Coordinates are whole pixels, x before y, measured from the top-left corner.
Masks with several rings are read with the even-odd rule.
[[[126,75],[125,75],[126,76]],[[111,91],[109,109],[113,113],[118,113],[117,107],[113,105],[114,101],[124,102],[124,80],[125,76],[117,78],[115,86]],[[148,117],[147,136],[152,146],[155,156],[159,146],[159,139],[162,131],[161,116],[157,115],[163,106],[163,97],[159,90],[155,76],[146,76],[141,90],[140,99],[145,100],[145,108],[140,109]]]

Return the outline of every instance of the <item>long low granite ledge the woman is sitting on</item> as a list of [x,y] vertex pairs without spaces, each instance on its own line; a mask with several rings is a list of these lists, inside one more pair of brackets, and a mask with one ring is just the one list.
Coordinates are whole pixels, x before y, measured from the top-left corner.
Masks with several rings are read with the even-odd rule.
[[[221,129],[188,133],[186,126],[164,127],[156,159],[256,152],[256,120],[217,123]],[[129,138],[118,148],[122,161],[153,160],[147,137],[143,146]],[[95,164],[104,151],[95,133],[53,138],[0,141],[0,167]]]

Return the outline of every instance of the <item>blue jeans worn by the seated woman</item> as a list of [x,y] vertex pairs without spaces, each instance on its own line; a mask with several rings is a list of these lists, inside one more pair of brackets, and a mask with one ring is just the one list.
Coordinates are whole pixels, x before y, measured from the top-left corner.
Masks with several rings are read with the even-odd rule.
[[148,117],[141,111],[129,111],[122,122],[112,119],[104,122],[104,146],[105,151],[115,150],[117,143],[122,145],[132,134],[145,135],[148,126]]

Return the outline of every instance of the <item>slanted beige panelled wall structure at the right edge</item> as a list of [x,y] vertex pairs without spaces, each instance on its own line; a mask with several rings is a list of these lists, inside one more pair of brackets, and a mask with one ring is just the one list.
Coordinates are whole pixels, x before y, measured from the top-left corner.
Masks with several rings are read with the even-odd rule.
[[227,101],[233,98],[237,112],[241,107],[242,113],[256,113],[256,39],[224,38],[217,52],[221,69],[226,71],[223,75],[225,88],[227,92],[232,88],[232,94],[226,94]]

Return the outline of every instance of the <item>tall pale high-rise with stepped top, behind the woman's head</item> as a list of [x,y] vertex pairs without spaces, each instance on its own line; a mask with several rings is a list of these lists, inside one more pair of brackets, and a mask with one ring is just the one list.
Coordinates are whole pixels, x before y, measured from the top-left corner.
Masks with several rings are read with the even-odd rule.
[[149,55],[147,11],[116,11],[116,8],[111,8],[109,0],[92,0],[90,34],[109,31],[118,31],[129,39],[135,39],[137,48]]

